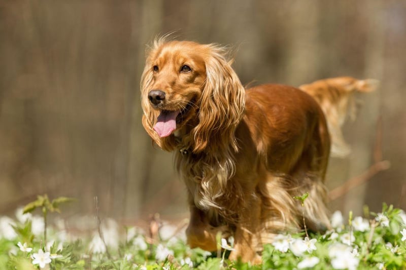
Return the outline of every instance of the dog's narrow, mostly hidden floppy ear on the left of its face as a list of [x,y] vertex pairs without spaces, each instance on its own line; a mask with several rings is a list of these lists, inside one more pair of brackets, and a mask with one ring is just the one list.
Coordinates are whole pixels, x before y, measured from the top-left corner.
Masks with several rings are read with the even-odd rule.
[[151,109],[148,100],[148,90],[151,89],[151,84],[153,80],[151,59],[157,53],[158,48],[162,46],[164,43],[165,36],[161,38],[156,38],[152,47],[149,50],[147,50],[147,60],[145,63],[143,74],[141,75],[141,106],[144,112],[142,123],[148,135],[153,139],[153,141],[156,144],[158,144],[159,147],[161,147],[163,150],[166,151],[172,151],[175,148],[175,140],[173,136],[161,138],[154,131],[154,125],[156,124],[156,119],[158,118],[159,112]]

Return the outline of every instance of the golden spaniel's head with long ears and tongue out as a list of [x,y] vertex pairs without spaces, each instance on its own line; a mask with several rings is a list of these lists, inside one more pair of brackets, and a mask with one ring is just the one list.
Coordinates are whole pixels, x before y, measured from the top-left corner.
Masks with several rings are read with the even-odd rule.
[[173,150],[176,137],[187,137],[193,152],[236,149],[245,90],[220,47],[156,40],[147,52],[141,100],[143,126],[162,149]]

